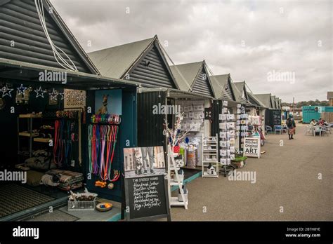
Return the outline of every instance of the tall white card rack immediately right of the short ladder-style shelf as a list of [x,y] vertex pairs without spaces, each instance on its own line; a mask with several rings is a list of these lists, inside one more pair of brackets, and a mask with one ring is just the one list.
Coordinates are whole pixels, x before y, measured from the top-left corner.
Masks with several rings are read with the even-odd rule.
[[[235,159],[235,115],[230,114],[227,101],[223,101],[223,107],[221,114],[219,114],[219,120],[220,172],[223,173],[224,177],[226,177],[228,172],[236,168],[231,164],[231,160]],[[231,141],[233,141],[233,143],[231,143]],[[231,146],[231,144],[233,144],[233,146]],[[233,150],[230,150],[230,147],[233,147]]]

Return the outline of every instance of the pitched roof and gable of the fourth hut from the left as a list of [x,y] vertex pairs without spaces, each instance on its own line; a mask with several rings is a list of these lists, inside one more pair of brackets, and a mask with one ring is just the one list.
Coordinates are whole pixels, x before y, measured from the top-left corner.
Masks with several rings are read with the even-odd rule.
[[[230,74],[220,74],[210,76],[210,78],[216,98],[235,101],[235,94]],[[228,90],[228,88],[230,88],[230,90]]]

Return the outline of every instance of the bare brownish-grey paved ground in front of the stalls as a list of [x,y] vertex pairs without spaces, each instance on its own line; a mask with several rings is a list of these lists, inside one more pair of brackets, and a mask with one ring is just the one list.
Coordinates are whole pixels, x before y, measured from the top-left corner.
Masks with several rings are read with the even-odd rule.
[[332,221],[333,134],[313,137],[304,135],[305,129],[297,124],[294,140],[268,135],[266,154],[249,158],[244,168],[237,169],[256,171],[255,184],[229,181],[223,175],[190,182],[189,209],[171,208],[171,219]]

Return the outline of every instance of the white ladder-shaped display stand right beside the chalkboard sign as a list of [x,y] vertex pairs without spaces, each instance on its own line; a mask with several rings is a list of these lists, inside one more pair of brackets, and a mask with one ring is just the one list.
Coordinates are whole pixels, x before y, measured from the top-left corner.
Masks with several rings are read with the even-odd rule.
[[[185,194],[183,190],[183,180],[179,177],[178,170],[179,167],[176,167],[176,162],[174,159],[174,153],[171,149],[171,146],[168,145],[168,191],[169,191],[169,205],[171,206],[184,206],[185,209],[188,209],[188,200],[185,199]],[[174,179],[171,179],[171,171],[175,172],[174,177],[176,177],[176,182]],[[171,196],[171,187],[178,186],[179,191],[181,192],[181,199],[182,201],[178,201],[178,197]]]

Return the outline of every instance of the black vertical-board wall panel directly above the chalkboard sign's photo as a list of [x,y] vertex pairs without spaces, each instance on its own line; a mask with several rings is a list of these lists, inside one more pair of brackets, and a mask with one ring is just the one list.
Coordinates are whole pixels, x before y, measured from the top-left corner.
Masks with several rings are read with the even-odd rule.
[[165,104],[164,92],[138,93],[138,147],[164,146],[164,114],[153,114],[153,106]]

